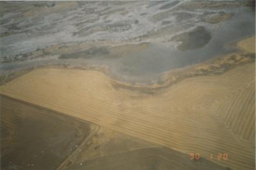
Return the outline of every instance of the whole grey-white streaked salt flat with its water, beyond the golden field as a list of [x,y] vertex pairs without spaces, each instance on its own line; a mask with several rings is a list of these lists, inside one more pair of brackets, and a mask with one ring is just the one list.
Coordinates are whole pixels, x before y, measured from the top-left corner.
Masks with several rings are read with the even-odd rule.
[[[235,50],[227,48],[228,43],[252,36],[255,31],[254,13],[248,4],[247,1],[1,2],[0,70],[6,74],[42,65],[107,65],[126,81],[152,81],[172,68]],[[84,42],[96,49],[100,44],[99,50],[106,49],[108,55],[97,50],[88,58],[91,50],[86,45],[76,48]],[[111,47],[142,42],[150,45],[135,52],[124,49],[118,58],[109,58]],[[45,52],[45,47],[51,45],[69,49],[60,52],[59,47],[54,52]],[[126,51],[132,52],[126,54]],[[84,52],[85,57],[71,56],[76,52],[80,56]],[[63,53],[69,55],[68,59],[61,58]]]

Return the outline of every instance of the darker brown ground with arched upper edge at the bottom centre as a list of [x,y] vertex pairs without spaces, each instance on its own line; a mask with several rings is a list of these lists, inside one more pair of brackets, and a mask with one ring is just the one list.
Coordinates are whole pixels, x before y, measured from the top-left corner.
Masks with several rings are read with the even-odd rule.
[[202,158],[200,161],[188,159],[189,155],[173,151],[168,148],[142,148],[140,150],[127,151],[125,153],[116,153],[106,157],[99,157],[93,160],[75,164],[66,170],[74,169],[205,169],[205,170],[226,170],[227,167],[221,167],[209,160]]

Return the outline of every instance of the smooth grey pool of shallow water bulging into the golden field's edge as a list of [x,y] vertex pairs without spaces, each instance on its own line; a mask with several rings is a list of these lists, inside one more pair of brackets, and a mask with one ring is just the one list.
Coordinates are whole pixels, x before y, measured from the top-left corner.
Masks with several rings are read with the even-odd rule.
[[254,31],[253,13],[246,8],[239,9],[232,19],[221,23],[218,29],[211,30],[210,42],[200,49],[180,51],[175,47],[152,43],[145,50],[132,52],[117,59],[105,59],[100,63],[110,65],[120,79],[131,82],[150,82],[156,80],[160,73],[172,68],[193,65],[214,56],[234,52],[237,49],[226,46],[254,35]]

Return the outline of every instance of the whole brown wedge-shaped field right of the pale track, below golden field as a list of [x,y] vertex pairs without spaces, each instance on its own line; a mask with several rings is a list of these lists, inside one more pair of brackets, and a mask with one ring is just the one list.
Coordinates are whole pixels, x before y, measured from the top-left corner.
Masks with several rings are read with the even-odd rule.
[[64,169],[227,169],[205,158],[188,160],[188,157],[188,154],[101,127]]

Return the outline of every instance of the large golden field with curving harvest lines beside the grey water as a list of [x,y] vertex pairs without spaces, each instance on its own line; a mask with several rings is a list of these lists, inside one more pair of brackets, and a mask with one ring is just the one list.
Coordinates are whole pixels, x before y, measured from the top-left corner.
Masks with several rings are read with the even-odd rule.
[[[60,68],[34,70],[0,90],[222,166],[255,167],[254,63],[184,79],[153,95],[116,88],[101,72]],[[228,160],[217,160],[218,153]]]

